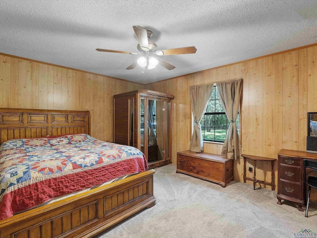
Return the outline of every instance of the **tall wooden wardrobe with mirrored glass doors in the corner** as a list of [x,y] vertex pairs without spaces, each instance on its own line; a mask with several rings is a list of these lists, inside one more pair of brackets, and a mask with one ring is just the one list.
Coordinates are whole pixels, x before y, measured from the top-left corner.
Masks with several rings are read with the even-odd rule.
[[171,99],[150,90],[113,96],[113,142],[141,150],[149,168],[171,163]]

